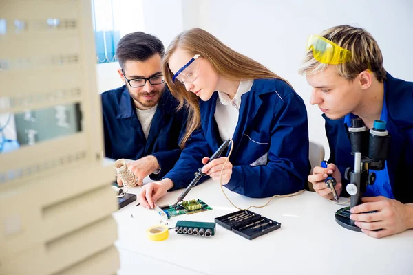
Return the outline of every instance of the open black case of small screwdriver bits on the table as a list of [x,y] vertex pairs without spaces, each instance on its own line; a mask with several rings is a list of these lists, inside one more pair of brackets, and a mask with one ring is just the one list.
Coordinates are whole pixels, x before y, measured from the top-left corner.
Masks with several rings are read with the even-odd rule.
[[215,223],[248,240],[255,239],[281,227],[281,223],[249,210],[240,210],[217,217]]

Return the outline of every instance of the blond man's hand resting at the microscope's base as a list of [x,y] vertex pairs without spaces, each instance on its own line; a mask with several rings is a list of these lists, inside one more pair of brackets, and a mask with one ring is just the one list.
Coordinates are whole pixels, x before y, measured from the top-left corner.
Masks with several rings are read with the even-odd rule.
[[[351,208],[350,219],[368,236],[381,238],[413,228],[413,203],[403,204],[383,196],[364,197],[362,201]],[[363,213],[371,211],[377,212]]]

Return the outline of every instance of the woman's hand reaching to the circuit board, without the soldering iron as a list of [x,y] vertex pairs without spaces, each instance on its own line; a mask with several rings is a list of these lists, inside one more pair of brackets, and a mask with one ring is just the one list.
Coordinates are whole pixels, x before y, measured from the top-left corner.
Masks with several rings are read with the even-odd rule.
[[140,190],[139,202],[145,208],[153,208],[156,201],[167,193],[167,190],[173,187],[171,179],[162,179],[157,182],[150,182],[142,186]]

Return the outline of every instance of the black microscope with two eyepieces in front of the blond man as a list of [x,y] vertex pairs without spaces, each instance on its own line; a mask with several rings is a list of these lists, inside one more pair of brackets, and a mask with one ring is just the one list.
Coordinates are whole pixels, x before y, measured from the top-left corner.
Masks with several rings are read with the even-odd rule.
[[390,134],[385,129],[386,122],[374,120],[370,131],[364,126],[361,118],[352,119],[348,127],[351,154],[354,156],[354,167],[348,167],[344,178],[350,181],[346,191],[351,196],[350,206],[341,208],[335,213],[335,220],[343,228],[361,232],[361,228],[350,219],[350,209],[361,204],[361,198],[368,184],[374,184],[376,174],[370,170],[383,170],[388,157]]

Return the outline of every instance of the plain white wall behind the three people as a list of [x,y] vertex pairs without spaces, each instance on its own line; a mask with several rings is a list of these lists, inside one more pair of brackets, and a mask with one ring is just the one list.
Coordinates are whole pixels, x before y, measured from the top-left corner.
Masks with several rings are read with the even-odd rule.
[[[412,14],[411,0],[143,0],[143,31],[158,36],[167,47],[182,30],[204,28],[286,78],[307,104],[310,140],[323,144],[328,157],[324,120],[308,103],[310,86],[305,77],[297,74],[308,34],[341,24],[366,28],[381,47],[385,69],[397,78],[413,80]],[[107,69],[114,68],[98,69],[100,91],[118,79],[116,69],[114,80]]]

